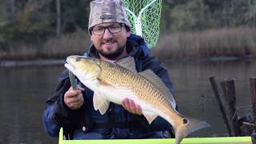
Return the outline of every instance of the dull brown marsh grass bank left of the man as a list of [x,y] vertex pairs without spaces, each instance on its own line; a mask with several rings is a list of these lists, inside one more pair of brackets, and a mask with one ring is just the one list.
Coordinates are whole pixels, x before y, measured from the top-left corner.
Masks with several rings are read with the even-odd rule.
[[62,34],[60,38],[48,38],[41,44],[19,44],[0,50],[0,59],[66,58],[71,54],[84,54],[90,46],[90,37],[84,30]]

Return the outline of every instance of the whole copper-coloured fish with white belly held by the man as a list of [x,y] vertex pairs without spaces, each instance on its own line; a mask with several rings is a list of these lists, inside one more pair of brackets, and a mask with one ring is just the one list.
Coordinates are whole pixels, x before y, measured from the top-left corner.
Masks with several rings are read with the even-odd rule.
[[110,102],[122,104],[130,98],[142,108],[149,123],[158,116],[174,127],[176,143],[194,130],[209,126],[206,122],[179,114],[170,90],[151,70],[137,72],[134,59],[106,62],[97,58],[70,56],[65,65],[78,79],[94,90],[94,109],[105,114]]

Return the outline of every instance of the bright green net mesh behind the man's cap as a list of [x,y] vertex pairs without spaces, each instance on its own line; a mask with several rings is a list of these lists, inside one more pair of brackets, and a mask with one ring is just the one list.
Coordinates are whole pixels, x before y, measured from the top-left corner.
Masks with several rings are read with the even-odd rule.
[[[136,15],[136,18],[138,17],[140,11],[153,1],[154,0],[124,0],[126,8],[132,11]],[[145,39],[150,48],[154,47],[158,42],[161,9],[162,0],[156,0],[142,12],[140,17],[142,24],[142,37]],[[132,32],[136,34],[134,26],[136,18],[134,18],[134,16],[129,12],[127,12],[127,14],[132,27]]]

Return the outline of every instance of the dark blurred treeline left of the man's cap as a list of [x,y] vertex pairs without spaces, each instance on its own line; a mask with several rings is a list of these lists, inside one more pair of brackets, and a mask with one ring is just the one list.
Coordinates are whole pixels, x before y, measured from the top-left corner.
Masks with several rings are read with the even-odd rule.
[[89,3],[90,0],[1,0],[0,48],[14,42],[41,42],[54,34],[74,32],[78,27],[85,29]]

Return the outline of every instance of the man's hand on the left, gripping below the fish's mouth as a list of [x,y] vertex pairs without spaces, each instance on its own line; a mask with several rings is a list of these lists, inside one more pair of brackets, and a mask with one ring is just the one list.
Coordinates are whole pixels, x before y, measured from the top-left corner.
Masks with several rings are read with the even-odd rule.
[[84,89],[80,87],[78,87],[78,90],[73,90],[73,88],[70,87],[70,89],[64,94],[64,102],[66,106],[68,106],[71,110],[79,109],[84,102],[82,95],[83,90]]

